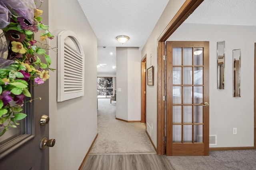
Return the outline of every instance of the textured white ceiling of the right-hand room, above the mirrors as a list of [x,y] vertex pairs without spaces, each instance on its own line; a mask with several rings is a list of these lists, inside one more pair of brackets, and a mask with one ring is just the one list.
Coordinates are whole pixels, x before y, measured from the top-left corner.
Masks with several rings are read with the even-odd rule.
[[184,23],[256,26],[256,0],[204,0]]

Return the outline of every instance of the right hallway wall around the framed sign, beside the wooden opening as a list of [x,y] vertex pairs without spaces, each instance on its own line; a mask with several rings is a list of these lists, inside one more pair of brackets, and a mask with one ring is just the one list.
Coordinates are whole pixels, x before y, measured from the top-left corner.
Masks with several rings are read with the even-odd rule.
[[[154,66],[154,86],[146,85],[146,121],[152,126],[151,139],[156,146],[157,135],[157,39],[178,12],[185,0],[170,0],[141,51],[141,59],[147,55],[147,68]],[[152,56],[152,57],[151,57]],[[150,65],[151,57],[151,65]],[[150,134],[149,129],[146,129]]]

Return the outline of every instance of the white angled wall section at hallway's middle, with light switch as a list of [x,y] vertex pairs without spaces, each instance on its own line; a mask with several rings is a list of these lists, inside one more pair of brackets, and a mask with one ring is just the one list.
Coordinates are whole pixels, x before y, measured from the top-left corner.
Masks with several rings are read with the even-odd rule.
[[116,118],[126,121],[141,119],[140,56],[138,47],[116,48]]

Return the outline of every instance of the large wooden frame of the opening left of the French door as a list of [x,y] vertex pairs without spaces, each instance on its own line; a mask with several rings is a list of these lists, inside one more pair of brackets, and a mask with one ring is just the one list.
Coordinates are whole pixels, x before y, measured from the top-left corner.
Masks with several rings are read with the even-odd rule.
[[162,97],[165,95],[164,75],[165,61],[162,56],[165,55],[165,41],[174,33],[174,31],[192,14],[192,12],[204,0],[186,0],[175,16],[172,18],[168,26],[164,29],[157,43],[157,154],[165,154],[165,102]]

